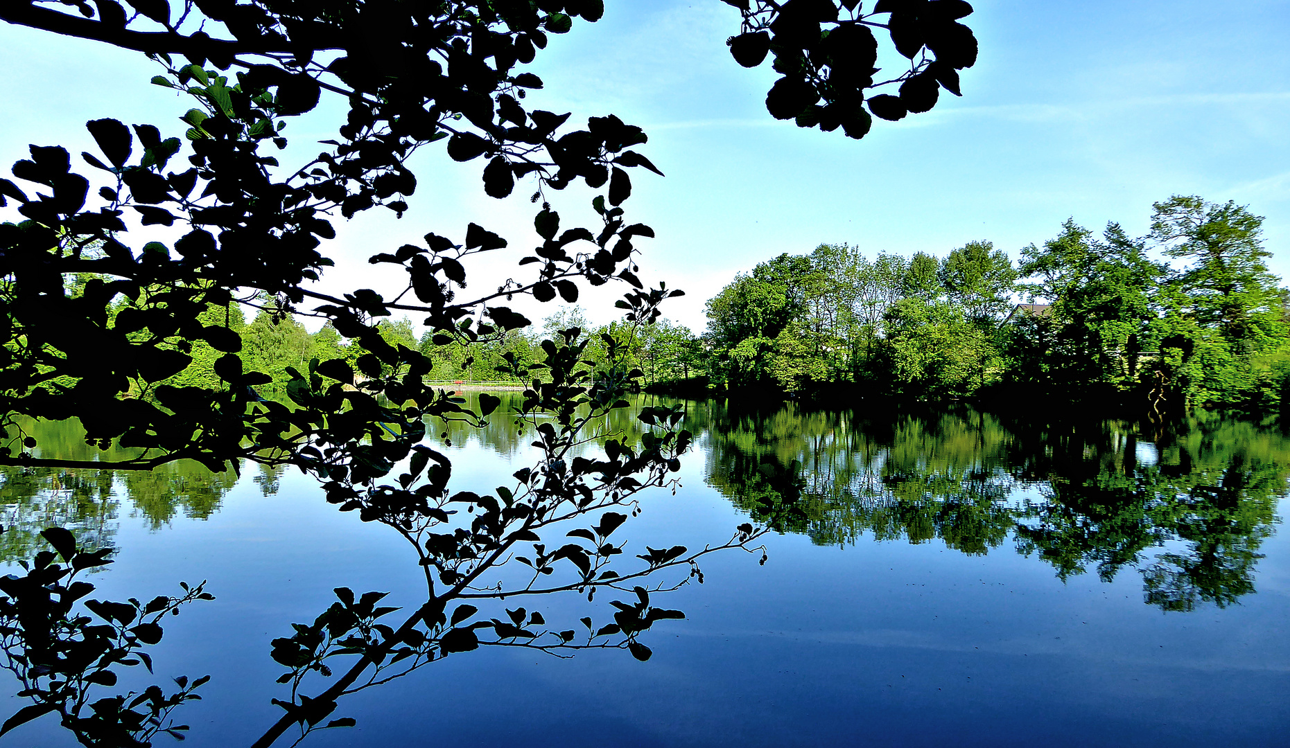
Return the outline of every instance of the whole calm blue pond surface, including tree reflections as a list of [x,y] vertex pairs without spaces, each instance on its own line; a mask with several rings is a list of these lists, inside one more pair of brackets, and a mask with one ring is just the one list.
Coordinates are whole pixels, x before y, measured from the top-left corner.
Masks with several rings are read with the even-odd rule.
[[[1290,438],[1278,428],[1209,414],[1149,427],[685,405],[697,446],[682,486],[642,502],[622,530],[628,552],[719,544],[751,516],[775,530],[764,565],[710,557],[703,584],[667,596],[686,620],[645,635],[649,662],[486,647],[350,696],[335,714],[357,726],[304,744],[1285,744]],[[40,444],[59,445],[46,455],[89,454],[72,426],[43,428]],[[631,428],[627,414],[605,424]],[[494,417],[437,446],[455,486],[482,491],[526,464],[530,438]],[[5,468],[0,480],[6,564],[58,524],[116,549],[95,596],[209,580],[215,600],[169,619],[154,653],[157,680],[212,676],[177,713],[187,745],[250,744],[279,717],[270,641],[312,620],[333,587],[417,604],[404,542],[290,471]],[[604,607],[543,602],[553,628]],[[50,717],[4,740],[75,744]]]

